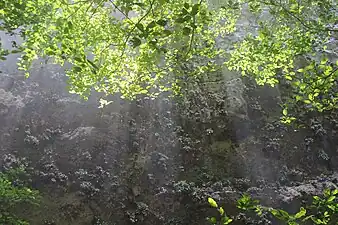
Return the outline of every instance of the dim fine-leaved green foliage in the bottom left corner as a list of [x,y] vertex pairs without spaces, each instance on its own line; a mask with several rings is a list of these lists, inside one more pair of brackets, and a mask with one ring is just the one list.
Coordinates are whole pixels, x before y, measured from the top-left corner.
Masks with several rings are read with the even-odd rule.
[[20,181],[23,175],[25,171],[22,168],[0,172],[0,224],[27,225],[28,222],[18,218],[15,211],[19,207],[22,209],[39,203],[38,191],[28,188]]

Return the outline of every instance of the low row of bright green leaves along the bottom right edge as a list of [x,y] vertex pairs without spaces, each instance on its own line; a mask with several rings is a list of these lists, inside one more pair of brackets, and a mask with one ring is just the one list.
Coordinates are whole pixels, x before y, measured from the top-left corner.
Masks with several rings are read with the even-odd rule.
[[[237,201],[237,208],[244,211],[254,211],[257,216],[262,216],[263,213],[269,213],[274,218],[288,225],[307,224],[307,221],[312,221],[314,224],[336,224],[338,215],[338,190],[325,190],[322,197],[313,196],[310,206],[301,207],[295,214],[290,214],[282,209],[265,207],[259,204],[258,200],[253,200],[249,195],[243,195]],[[212,207],[218,208],[215,200],[208,198],[208,202]],[[212,224],[229,224],[233,220],[230,217],[224,216],[222,207],[218,209],[221,219],[218,221],[216,217],[208,218]]]

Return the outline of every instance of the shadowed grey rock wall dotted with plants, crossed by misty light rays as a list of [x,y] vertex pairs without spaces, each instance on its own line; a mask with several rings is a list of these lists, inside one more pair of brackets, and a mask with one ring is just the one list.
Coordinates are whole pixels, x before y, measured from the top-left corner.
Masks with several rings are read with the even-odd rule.
[[21,213],[33,225],[205,224],[208,196],[235,213],[243,192],[291,207],[337,185],[336,117],[285,126],[278,89],[222,71],[179,101],[99,109],[98,94],[67,93],[62,69],[36,64],[26,79],[15,57],[0,64],[1,166],[31,168],[43,201]]

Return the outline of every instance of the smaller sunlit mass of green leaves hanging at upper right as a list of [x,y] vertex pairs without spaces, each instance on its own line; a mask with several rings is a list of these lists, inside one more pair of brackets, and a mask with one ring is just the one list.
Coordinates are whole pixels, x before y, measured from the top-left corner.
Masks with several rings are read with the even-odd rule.
[[251,0],[248,4],[253,13],[265,12],[269,19],[258,19],[257,33],[236,45],[226,65],[253,76],[260,85],[289,85],[285,123],[296,119],[290,113],[296,105],[303,105],[305,111],[336,108],[338,61],[336,46],[329,45],[338,33],[337,1]]

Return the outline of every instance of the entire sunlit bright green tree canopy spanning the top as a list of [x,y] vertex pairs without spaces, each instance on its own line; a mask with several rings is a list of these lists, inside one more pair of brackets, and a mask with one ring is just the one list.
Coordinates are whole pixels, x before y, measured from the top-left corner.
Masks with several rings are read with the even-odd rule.
[[[288,108],[337,108],[336,0],[0,0],[0,30],[20,35],[19,69],[37,58],[69,63],[70,90],[133,99],[179,95],[188,77],[221,67],[259,85],[290,87]],[[226,48],[248,9],[253,32]],[[244,14],[245,15],[245,14]]]

